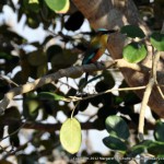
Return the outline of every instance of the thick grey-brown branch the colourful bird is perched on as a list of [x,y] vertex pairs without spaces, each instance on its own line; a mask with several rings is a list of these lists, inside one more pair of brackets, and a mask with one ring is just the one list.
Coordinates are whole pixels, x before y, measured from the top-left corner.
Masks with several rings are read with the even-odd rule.
[[79,74],[83,72],[93,72],[98,70],[105,70],[108,69],[112,66],[117,66],[118,68],[129,67],[131,69],[134,69],[137,71],[143,71],[145,72],[149,70],[148,68],[142,68],[141,66],[138,66],[136,63],[128,63],[124,59],[116,60],[116,61],[106,61],[106,62],[99,62],[97,65],[91,63],[87,66],[81,66],[81,67],[71,67],[67,69],[59,70],[56,73],[45,75],[40,79],[35,80],[34,82],[26,83],[24,85],[17,86],[9,91],[4,98],[0,103],[0,114],[3,114],[4,109],[8,107],[10,101],[20,94],[31,92],[33,90],[36,90],[37,87],[40,87],[47,83],[51,83],[52,81],[56,81],[63,77],[71,77],[73,74]]

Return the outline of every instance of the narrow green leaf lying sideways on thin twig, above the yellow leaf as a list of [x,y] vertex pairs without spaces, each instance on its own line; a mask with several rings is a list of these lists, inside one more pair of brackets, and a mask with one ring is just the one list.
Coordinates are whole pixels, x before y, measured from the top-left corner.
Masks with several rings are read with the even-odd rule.
[[51,92],[40,92],[38,97],[42,99],[52,99],[52,101],[67,101],[65,96],[58,95]]

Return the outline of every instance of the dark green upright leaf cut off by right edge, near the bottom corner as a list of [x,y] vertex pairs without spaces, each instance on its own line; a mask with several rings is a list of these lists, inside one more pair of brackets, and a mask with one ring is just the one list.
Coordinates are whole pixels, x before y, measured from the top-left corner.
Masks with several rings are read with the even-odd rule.
[[157,141],[164,142],[164,122],[161,120],[156,121],[154,137]]

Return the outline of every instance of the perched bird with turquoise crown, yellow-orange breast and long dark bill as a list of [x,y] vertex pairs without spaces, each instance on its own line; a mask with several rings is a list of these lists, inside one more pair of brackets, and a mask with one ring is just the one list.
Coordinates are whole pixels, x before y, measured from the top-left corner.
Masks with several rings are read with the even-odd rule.
[[[96,31],[96,36],[91,40],[84,54],[82,65],[96,62],[106,50],[108,35],[115,32],[115,30],[98,28]],[[87,77],[89,73],[85,74],[85,82],[87,82]]]

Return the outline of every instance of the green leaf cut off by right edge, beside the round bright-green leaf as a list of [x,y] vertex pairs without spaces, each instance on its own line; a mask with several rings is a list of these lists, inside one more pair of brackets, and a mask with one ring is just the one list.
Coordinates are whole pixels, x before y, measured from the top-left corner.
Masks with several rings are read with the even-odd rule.
[[157,50],[164,50],[164,34],[155,32],[151,35],[150,40]]

